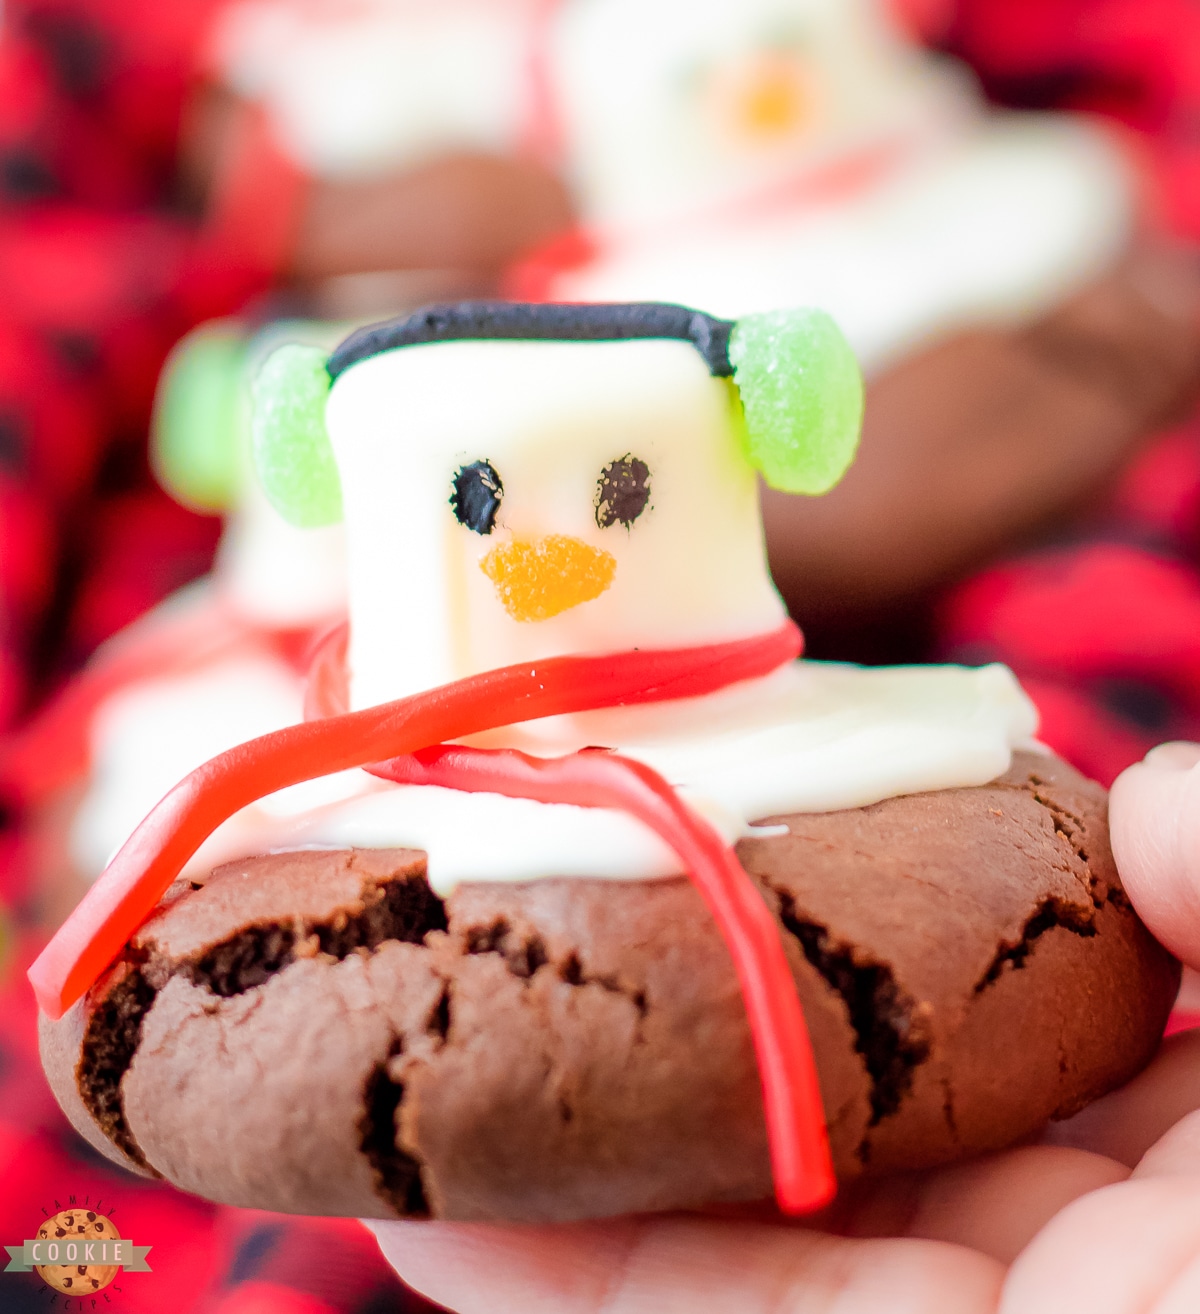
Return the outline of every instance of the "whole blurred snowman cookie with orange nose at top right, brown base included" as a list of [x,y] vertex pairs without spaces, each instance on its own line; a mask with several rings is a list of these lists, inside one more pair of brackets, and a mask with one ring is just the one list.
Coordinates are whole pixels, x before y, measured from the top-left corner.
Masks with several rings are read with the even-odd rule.
[[[549,83],[581,231],[523,292],[835,315],[867,376],[862,460],[804,515],[764,505],[775,582],[831,654],[1061,532],[1200,389],[1197,265],[1130,139],[990,106],[895,9],[563,0]],[[899,627],[874,628],[886,652]]]

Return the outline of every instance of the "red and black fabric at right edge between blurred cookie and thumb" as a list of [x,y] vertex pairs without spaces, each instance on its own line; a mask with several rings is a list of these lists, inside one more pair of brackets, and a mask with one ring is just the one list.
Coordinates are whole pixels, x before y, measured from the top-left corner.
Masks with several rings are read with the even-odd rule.
[[1154,442],[1090,524],[952,590],[938,628],[938,656],[1012,666],[1041,737],[1104,784],[1200,740],[1200,422]]

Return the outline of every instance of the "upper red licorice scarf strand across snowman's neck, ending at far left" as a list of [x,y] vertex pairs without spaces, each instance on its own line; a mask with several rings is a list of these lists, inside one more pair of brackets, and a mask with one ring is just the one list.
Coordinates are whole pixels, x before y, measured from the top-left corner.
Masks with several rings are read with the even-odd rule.
[[221,753],[162,799],[35,959],[29,979],[38,1004],[60,1017],[120,954],[208,836],[276,790],[520,720],[712,692],[768,674],[800,644],[787,622],[731,644],[551,657],[289,725]]

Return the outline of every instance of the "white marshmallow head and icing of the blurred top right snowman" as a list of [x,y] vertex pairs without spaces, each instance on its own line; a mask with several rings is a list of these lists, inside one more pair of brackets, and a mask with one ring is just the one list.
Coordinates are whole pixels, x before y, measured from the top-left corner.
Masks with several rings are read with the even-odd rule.
[[599,246],[555,298],[819,305],[871,372],[1044,313],[1132,231],[1097,125],[987,110],[877,0],[564,0],[552,50]]

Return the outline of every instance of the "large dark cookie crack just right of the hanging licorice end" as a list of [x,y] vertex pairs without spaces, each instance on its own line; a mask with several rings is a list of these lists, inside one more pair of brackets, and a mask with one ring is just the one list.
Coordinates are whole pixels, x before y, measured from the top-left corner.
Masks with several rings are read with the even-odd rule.
[[[828,926],[800,917],[786,890],[774,892],[785,930],[846,1007],[854,1049],[862,1055],[870,1079],[867,1126],[875,1127],[900,1108],[912,1089],[913,1072],[929,1056],[928,1026],[916,1000],[896,982],[887,963],[837,941]],[[865,1160],[866,1141],[858,1152]]]

